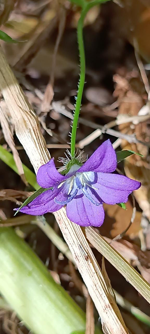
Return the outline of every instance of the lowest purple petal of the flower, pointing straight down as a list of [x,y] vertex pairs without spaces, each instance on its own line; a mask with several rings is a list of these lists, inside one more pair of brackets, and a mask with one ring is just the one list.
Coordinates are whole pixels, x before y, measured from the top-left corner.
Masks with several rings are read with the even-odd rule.
[[67,216],[80,226],[101,226],[104,221],[103,205],[91,203],[81,190],[71,202],[67,204]]

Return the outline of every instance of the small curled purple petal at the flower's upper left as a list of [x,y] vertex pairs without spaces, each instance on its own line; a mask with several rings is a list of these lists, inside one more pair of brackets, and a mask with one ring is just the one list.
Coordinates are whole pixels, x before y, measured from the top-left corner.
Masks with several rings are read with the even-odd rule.
[[67,179],[66,176],[61,175],[54,164],[52,158],[47,164],[42,165],[37,172],[37,182],[43,188],[54,187]]

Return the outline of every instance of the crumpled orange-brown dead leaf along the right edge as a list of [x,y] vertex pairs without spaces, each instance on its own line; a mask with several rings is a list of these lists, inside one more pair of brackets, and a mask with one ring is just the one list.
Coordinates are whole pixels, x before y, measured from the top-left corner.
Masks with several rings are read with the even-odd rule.
[[[131,90],[131,86],[127,87],[126,90],[121,91],[122,78],[119,81],[119,76],[115,76],[115,81],[117,81],[116,90],[114,92],[115,96],[118,94],[118,99],[120,102],[119,115],[126,114],[130,116],[136,116],[139,110],[143,106],[143,99],[140,95]],[[128,89],[128,90],[127,90]],[[124,93],[124,95],[123,95]],[[134,125],[132,123],[125,123],[119,125],[119,130],[126,134],[136,134],[136,138],[143,142],[149,141],[149,128],[147,127],[147,122],[139,123]],[[143,210],[144,215],[150,220],[150,164],[147,158],[148,147],[142,144],[129,144],[127,141],[122,140],[121,147],[124,150],[132,150],[137,153],[143,154],[144,158],[134,154],[124,161],[124,169],[126,176],[131,179],[135,179],[142,183],[142,186],[134,191],[134,196]]]

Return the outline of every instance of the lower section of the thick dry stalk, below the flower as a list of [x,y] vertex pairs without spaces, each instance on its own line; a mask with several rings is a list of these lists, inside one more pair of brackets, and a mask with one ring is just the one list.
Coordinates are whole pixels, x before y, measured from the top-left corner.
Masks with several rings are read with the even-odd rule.
[[118,334],[128,333],[80,226],[68,219],[64,207],[54,214],[108,334],[114,334],[115,331]]

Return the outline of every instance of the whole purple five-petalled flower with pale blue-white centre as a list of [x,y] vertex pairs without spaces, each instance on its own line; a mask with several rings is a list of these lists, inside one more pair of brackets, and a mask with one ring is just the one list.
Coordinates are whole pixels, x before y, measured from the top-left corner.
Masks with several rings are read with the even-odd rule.
[[81,226],[101,226],[103,202],[127,202],[129,194],[141,183],[126,176],[111,174],[117,166],[116,153],[110,140],[105,141],[82,165],[74,164],[61,175],[51,159],[41,166],[37,182],[46,190],[20,211],[32,215],[54,212],[66,205],[68,218]]

